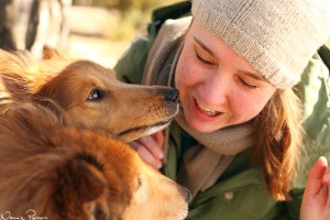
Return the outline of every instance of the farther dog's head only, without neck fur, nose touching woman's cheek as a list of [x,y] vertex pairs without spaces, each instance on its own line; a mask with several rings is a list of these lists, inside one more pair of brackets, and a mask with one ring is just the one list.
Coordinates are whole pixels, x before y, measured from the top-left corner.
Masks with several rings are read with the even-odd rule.
[[176,89],[123,84],[88,61],[66,66],[36,96],[55,100],[79,127],[125,141],[165,128],[178,111]]

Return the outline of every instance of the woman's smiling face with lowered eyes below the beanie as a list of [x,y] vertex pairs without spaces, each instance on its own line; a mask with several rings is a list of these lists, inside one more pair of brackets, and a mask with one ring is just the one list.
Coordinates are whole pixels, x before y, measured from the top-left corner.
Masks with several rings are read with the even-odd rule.
[[186,35],[175,84],[187,123],[199,132],[253,119],[276,90],[197,20]]

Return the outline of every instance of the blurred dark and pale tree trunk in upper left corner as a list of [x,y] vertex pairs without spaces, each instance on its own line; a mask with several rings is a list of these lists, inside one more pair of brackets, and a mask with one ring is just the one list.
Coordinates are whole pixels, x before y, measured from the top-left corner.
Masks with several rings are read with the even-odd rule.
[[63,51],[69,28],[66,9],[72,0],[0,0],[0,47],[29,50],[42,56],[44,45]]

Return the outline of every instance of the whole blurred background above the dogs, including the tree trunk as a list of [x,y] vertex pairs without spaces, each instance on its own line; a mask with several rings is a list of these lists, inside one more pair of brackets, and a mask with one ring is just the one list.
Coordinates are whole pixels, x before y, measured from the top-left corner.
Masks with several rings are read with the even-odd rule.
[[0,0],[0,47],[47,44],[63,55],[113,67],[130,43],[146,33],[152,11],[180,0]]

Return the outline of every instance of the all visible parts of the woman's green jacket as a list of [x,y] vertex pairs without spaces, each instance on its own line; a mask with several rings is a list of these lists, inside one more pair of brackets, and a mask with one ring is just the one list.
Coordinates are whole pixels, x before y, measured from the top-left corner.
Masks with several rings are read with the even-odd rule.
[[[189,14],[189,2],[157,10],[153,14],[148,36],[138,38],[122,56],[114,69],[120,80],[140,84],[148,51],[164,22],[162,18]],[[179,11],[179,13],[175,13]],[[161,19],[160,19],[161,18]],[[324,65],[330,61],[324,46],[310,61],[297,86],[304,105],[304,129],[307,140],[301,167],[293,183],[289,202],[276,202],[268,194],[257,166],[250,165],[252,147],[239,154],[216,185],[199,193],[189,205],[187,219],[198,220],[258,220],[299,219],[299,209],[307,174],[317,157],[330,158],[330,80]],[[163,173],[176,179],[184,152],[195,143],[175,122],[169,128],[169,147]]]

